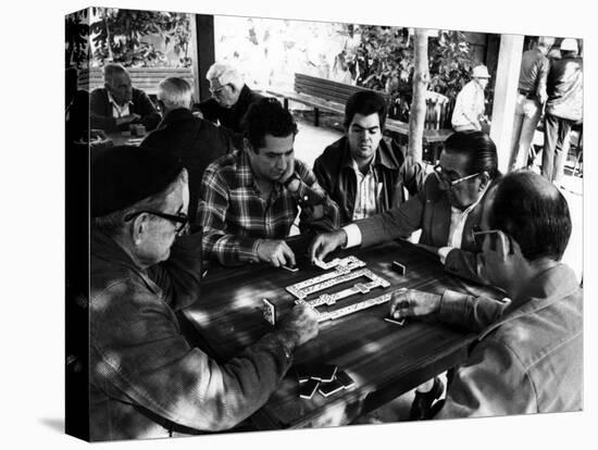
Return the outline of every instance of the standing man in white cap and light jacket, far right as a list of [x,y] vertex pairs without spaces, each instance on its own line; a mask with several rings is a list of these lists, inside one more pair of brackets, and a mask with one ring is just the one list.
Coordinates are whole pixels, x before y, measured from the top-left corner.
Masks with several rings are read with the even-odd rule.
[[563,39],[560,48],[561,59],[553,61],[548,72],[541,158],[541,174],[557,186],[562,183],[571,127],[582,120],[584,111],[583,62],[577,57],[577,41]]

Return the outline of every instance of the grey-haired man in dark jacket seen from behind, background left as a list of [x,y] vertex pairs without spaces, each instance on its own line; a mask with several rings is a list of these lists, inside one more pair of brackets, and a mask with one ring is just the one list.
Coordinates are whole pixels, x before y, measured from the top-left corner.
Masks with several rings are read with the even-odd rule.
[[189,221],[195,224],[199,189],[205,167],[233,151],[229,133],[189,110],[191,86],[183,78],[170,77],[158,86],[158,102],[164,118],[141,147],[175,152],[189,173]]

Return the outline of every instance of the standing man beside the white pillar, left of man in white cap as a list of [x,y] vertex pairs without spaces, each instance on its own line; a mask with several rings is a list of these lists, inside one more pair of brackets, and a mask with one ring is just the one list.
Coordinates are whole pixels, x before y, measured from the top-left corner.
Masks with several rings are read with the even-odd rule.
[[555,38],[541,36],[536,48],[523,52],[509,160],[510,171],[527,165],[534,133],[547,99],[546,78],[550,63],[546,54],[553,42]]

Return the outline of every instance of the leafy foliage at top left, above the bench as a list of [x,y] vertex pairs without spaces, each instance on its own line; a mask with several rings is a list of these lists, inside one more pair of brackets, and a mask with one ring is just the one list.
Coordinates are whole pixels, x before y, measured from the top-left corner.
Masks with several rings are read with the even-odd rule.
[[[83,12],[80,12],[83,13]],[[92,8],[94,22],[87,26],[87,10],[66,20],[66,61],[80,65],[87,58],[87,35],[92,36],[94,58],[100,63],[117,62],[125,66],[169,65],[164,52],[146,36],[159,36],[166,45],[173,43],[179,57],[177,66],[188,67],[191,36],[188,14],[160,11],[134,11],[116,8]],[[85,42],[83,41],[85,39]]]

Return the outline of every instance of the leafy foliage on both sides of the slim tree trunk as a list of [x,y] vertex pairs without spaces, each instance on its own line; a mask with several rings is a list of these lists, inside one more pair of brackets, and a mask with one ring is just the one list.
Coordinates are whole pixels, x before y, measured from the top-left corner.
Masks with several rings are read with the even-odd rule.
[[[414,72],[412,30],[403,27],[347,25],[347,33],[360,34],[354,49],[345,51],[345,62],[358,86],[390,95],[389,114],[407,121]],[[439,30],[428,39],[431,83],[428,89],[454,99],[470,78],[474,61],[461,32]]]

